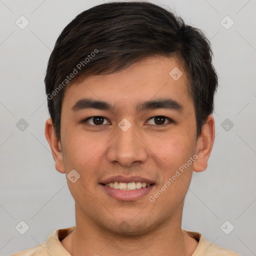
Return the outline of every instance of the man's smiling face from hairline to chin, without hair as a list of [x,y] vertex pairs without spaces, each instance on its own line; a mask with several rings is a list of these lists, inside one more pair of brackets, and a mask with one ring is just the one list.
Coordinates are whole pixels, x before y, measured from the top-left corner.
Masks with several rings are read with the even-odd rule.
[[[178,79],[169,74],[173,68],[182,71]],[[201,157],[186,82],[176,59],[155,56],[66,88],[55,160],[67,175],[77,216],[131,234],[181,221]]]

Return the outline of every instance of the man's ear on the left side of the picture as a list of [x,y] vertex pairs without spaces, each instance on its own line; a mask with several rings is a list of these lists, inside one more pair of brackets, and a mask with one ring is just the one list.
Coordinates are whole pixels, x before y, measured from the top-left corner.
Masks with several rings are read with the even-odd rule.
[[61,173],[65,173],[61,143],[56,137],[51,118],[48,118],[45,122],[44,134],[50,145],[50,150],[55,161],[56,170]]

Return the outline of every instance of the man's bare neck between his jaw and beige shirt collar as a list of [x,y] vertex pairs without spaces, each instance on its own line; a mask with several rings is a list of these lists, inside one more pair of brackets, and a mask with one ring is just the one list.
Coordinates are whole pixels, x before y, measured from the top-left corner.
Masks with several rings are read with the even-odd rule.
[[197,242],[181,229],[178,215],[148,232],[127,236],[95,225],[76,209],[76,228],[61,243],[71,256],[191,256]]

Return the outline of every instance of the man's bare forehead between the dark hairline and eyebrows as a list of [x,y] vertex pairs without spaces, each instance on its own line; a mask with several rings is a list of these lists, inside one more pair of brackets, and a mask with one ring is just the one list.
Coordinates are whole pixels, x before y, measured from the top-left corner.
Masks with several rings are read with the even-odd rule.
[[68,98],[70,103],[82,97],[109,101],[120,107],[135,106],[134,103],[142,99],[171,97],[177,102],[191,100],[181,61],[163,56],[140,59],[115,73],[79,79],[66,87],[63,101],[67,102]]

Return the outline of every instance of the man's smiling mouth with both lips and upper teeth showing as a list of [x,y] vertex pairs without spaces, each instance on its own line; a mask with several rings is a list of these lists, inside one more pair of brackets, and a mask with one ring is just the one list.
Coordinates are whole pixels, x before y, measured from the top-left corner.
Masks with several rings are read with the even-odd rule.
[[108,196],[122,201],[137,200],[148,194],[155,186],[152,180],[139,176],[115,176],[99,184]]

